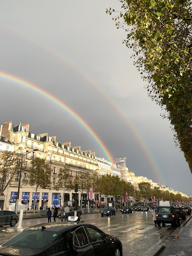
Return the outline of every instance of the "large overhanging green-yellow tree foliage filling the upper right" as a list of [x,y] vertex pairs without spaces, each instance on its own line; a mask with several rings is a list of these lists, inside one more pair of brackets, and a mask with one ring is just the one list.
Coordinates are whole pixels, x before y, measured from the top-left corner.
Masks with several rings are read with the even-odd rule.
[[134,64],[148,82],[148,94],[166,110],[192,172],[191,0],[120,2],[123,11],[113,19],[128,32],[123,43],[134,50]]

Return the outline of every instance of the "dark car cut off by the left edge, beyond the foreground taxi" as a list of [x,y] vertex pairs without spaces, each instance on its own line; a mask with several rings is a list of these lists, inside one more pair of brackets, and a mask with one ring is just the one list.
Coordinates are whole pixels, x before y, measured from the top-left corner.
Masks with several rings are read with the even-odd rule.
[[14,227],[18,222],[18,215],[12,211],[0,210],[0,226],[10,225]]

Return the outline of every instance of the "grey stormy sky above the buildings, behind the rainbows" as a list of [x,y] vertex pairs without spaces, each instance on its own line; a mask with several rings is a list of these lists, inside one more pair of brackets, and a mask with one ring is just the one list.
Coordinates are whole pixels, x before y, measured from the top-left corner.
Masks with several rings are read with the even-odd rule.
[[[0,124],[30,124],[58,142],[109,159],[74,115],[40,92],[44,90],[86,123],[115,158],[169,188],[192,195],[192,176],[174,143],[164,111],[148,97],[140,72],[122,44],[106,8],[118,0],[6,0],[0,8]],[[6,73],[3,77],[2,73]]]

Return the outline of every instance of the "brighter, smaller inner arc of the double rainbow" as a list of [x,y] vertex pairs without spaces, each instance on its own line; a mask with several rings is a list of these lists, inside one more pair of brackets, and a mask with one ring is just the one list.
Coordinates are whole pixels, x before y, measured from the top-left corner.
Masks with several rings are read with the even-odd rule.
[[7,74],[5,72],[0,72],[0,77],[6,78],[7,80],[10,80],[12,82],[16,82],[17,84],[21,84],[21,85],[23,85],[23,86],[25,86],[27,88],[30,88],[30,89],[34,90],[35,92],[38,92],[41,95],[43,95],[44,97],[48,98],[52,102],[55,102],[57,105],[62,107],[64,110],[66,110],[66,112],[68,112],[71,116],[73,116],[88,131],[88,133],[94,138],[94,140],[100,146],[100,148],[102,149],[102,151],[104,152],[104,154],[106,155],[108,160],[110,162],[114,163],[114,158],[113,158],[112,154],[109,152],[108,148],[104,145],[104,143],[99,138],[99,136],[94,132],[94,130],[76,112],[74,112],[74,110],[69,108],[61,100],[59,100],[58,98],[52,96],[52,94],[46,92],[45,90],[42,90],[38,86],[36,86],[34,84],[31,84],[31,83],[29,83],[29,82],[27,82],[25,80],[22,80],[22,79],[20,79],[20,78],[18,78],[16,76]]

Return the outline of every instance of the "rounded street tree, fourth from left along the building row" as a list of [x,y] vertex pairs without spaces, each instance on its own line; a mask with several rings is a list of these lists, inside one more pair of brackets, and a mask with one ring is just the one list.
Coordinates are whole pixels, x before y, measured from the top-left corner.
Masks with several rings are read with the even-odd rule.
[[[80,170],[74,177],[73,184],[78,184],[78,190],[80,190],[83,195],[83,190],[90,190],[94,184],[94,173]],[[82,210],[82,200],[81,200],[81,210]]]

